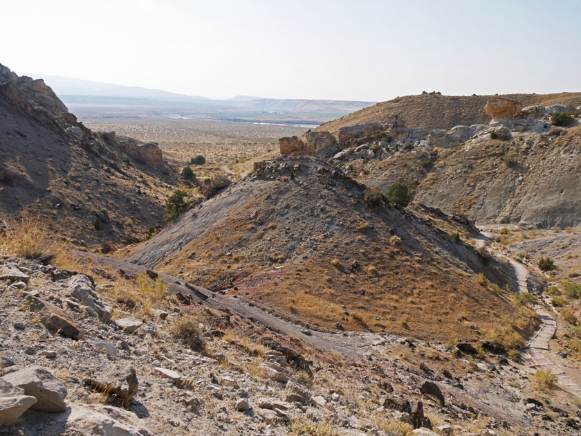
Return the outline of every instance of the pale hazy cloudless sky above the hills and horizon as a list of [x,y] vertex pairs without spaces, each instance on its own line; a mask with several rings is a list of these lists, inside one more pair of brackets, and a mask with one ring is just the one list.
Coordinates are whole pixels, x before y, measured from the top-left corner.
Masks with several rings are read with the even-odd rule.
[[26,0],[1,15],[14,71],[209,98],[581,91],[578,0]]

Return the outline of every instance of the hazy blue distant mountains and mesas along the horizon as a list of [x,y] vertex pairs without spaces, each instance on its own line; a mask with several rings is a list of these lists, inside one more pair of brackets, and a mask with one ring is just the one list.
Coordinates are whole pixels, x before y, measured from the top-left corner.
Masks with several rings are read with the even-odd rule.
[[276,99],[236,96],[212,100],[160,89],[126,87],[55,75],[42,77],[57,96],[83,117],[174,115],[216,116],[217,118],[252,118],[252,120],[297,120],[324,122],[374,105],[375,102],[347,100]]

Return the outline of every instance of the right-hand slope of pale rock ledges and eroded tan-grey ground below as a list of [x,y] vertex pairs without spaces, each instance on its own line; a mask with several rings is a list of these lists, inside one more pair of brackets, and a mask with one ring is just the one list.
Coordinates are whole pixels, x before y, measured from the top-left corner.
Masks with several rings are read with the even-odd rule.
[[[341,150],[329,162],[382,192],[406,183],[416,204],[479,224],[579,226],[580,108],[562,103],[523,108],[495,98],[486,105],[494,118],[487,124],[410,128],[391,116],[383,125],[341,127],[338,140],[324,131],[311,135],[326,135],[327,148],[317,153]],[[552,125],[555,113],[567,114],[566,126]],[[331,143],[334,148],[326,145]]]

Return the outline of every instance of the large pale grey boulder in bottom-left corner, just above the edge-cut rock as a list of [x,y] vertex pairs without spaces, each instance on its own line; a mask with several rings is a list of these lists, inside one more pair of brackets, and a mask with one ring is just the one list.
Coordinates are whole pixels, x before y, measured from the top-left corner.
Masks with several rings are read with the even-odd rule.
[[24,389],[24,394],[35,397],[37,402],[31,406],[33,410],[42,412],[64,412],[66,410],[64,399],[67,392],[64,384],[43,367],[27,367],[24,370],[6,374],[2,379]]

